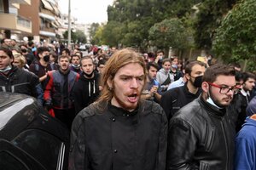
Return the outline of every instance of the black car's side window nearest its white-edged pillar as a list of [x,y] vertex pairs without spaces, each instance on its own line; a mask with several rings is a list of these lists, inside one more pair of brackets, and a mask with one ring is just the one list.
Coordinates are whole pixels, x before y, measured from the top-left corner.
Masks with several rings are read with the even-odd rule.
[[56,169],[62,143],[55,136],[30,129],[20,133],[12,143],[25,150],[47,169]]

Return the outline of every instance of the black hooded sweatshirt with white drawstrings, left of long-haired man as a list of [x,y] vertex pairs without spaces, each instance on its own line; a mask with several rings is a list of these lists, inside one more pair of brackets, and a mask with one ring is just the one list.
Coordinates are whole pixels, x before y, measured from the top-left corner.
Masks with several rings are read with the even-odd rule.
[[79,113],[84,107],[87,107],[96,99],[100,94],[99,90],[99,74],[94,72],[94,77],[86,78],[84,73],[79,77],[79,81],[73,88],[73,99],[76,113]]

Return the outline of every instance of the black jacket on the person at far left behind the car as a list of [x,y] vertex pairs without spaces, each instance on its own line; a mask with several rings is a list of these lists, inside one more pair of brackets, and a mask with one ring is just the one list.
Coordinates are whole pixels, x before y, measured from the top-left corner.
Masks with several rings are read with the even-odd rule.
[[1,92],[27,94],[38,98],[37,87],[41,88],[41,84],[38,77],[31,72],[24,71],[16,66],[12,66],[8,75],[0,72]]

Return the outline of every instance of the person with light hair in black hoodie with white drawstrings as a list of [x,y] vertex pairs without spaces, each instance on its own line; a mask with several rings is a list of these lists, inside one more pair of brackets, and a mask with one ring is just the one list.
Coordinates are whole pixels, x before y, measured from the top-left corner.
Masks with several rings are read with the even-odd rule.
[[79,81],[73,87],[73,99],[76,113],[90,105],[98,98],[99,74],[94,71],[93,60],[84,57],[80,61],[82,74]]

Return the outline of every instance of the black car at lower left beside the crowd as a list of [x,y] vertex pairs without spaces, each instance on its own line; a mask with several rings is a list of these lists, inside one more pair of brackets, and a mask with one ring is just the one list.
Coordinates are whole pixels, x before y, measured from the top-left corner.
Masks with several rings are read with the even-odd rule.
[[67,169],[69,131],[25,94],[0,93],[0,168]]

